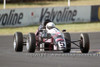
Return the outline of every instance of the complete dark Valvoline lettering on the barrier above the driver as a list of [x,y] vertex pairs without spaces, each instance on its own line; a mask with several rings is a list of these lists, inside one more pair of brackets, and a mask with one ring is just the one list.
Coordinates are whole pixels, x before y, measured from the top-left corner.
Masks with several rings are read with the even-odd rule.
[[56,20],[56,22],[75,21],[77,10],[70,10],[69,7],[65,7],[63,10],[56,9],[52,8],[49,10],[49,8],[42,8],[40,22],[45,19],[51,19],[52,21]]

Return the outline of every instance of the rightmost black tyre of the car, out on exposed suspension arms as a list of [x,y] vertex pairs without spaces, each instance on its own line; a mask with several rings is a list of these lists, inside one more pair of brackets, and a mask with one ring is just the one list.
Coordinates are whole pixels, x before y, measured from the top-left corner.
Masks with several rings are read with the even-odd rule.
[[80,35],[80,50],[82,53],[88,53],[90,48],[89,36],[87,33]]

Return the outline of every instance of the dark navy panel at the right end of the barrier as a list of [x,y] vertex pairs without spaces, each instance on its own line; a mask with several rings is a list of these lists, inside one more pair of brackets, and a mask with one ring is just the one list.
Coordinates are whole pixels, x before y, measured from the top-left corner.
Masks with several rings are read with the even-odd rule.
[[91,22],[100,21],[100,5],[92,6]]

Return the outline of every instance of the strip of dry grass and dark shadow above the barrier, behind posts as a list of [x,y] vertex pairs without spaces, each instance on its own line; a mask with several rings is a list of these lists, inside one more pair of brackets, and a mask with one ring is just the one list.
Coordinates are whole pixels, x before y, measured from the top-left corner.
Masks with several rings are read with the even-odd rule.
[[[6,8],[68,6],[68,0],[6,0]],[[70,0],[71,6],[100,5],[100,0]],[[3,9],[3,0],[0,0]]]

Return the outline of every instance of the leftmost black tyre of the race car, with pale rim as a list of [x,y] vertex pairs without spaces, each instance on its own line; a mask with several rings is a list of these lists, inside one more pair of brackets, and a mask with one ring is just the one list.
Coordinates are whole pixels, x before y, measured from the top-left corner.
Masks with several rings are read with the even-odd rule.
[[21,32],[16,32],[14,34],[14,50],[16,52],[22,52],[23,50],[23,34]]

